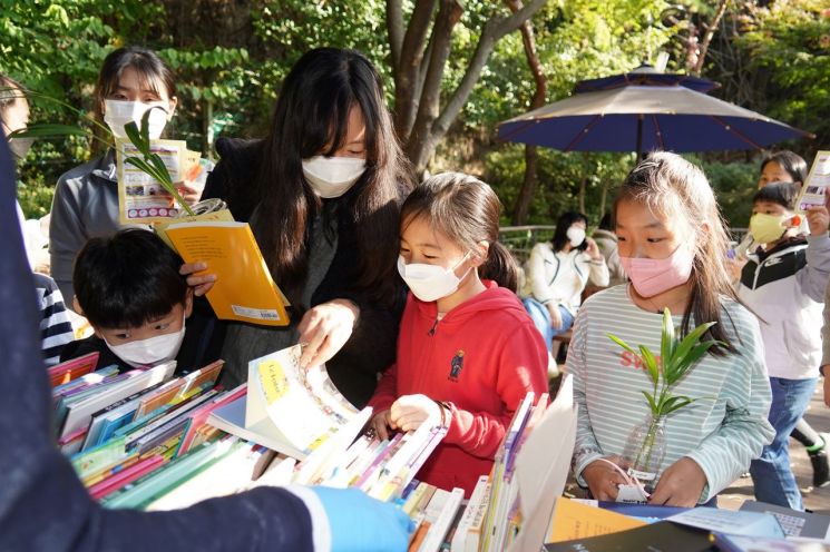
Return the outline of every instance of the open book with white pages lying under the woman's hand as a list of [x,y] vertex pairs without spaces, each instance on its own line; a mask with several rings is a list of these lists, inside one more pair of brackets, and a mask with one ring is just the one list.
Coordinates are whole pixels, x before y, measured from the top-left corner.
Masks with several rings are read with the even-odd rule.
[[207,423],[297,460],[329,440],[351,443],[371,408],[358,411],[336,390],[324,366],[300,366],[300,345],[248,363],[247,395]]

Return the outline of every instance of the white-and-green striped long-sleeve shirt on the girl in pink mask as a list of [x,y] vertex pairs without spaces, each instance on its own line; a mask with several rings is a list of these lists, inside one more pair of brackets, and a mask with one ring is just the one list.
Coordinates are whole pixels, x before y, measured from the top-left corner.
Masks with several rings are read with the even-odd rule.
[[[700,401],[668,416],[666,453],[660,467],[662,473],[683,456],[694,460],[707,482],[701,502],[745,472],[774,435],[766,421],[771,393],[758,321],[741,305],[723,303],[723,324],[739,353],[705,355],[674,387],[675,394]],[[741,342],[734,337],[730,317]],[[681,319],[674,317],[676,327]],[[661,314],[634,305],[626,285],[592,296],[579,309],[566,371],[574,376],[574,398],[579,405],[574,472],[583,485],[585,466],[599,456],[622,454],[631,431],[650,414],[641,393],[652,388],[647,372],[639,358],[624,352],[607,334],[660,354],[662,321]]]

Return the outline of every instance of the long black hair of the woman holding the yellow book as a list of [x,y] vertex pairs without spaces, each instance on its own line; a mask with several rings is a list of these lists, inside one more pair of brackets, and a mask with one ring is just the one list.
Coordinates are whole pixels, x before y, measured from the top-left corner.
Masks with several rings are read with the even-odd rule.
[[323,208],[303,177],[302,160],[340,149],[352,107],[360,108],[365,124],[367,170],[342,198],[325,201],[323,213],[336,206],[338,217],[355,227],[359,288],[384,297],[396,282],[399,206],[412,177],[380,76],[354,50],[318,48],[300,58],[280,91],[252,220],[265,262],[292,303],[299,304],[309,270],[309,221]]

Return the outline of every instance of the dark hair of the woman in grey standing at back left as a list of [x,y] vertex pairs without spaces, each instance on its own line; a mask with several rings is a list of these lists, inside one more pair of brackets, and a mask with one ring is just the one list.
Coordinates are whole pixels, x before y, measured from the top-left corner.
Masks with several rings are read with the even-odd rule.
[[[98,73],[98,81],[95,83],[95,106],[92,112],[96,120],[101,125],[104,122],[104,100],[113,96],[118,89],[118,81],[126,69],[135,69],[143,87],[148,90],[155,90],[160,93],[166,92],[169,98],[176,96],[176,78],[173,70],[164,60],[149,48],[140,46],[127,46],[113,50],[104,58],[101,70]],[[96,129],[96,134],[102,132]],[[104,137],[101,137],[104,138]],[[98,140],[94,140],[94,149]]]

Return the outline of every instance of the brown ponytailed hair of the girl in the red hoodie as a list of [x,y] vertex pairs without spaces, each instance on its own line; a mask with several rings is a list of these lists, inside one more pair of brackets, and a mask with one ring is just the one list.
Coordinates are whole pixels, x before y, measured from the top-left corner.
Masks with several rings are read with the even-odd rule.
[[488,185],[463,172],[443,172],[419,184],[409,195],[401,207],[401,227],[424,217],[461,249],[476,250],[479,241],[488,241],[479,275],[516,292],[518,266],[498,241],[500,211],[499,198]]

